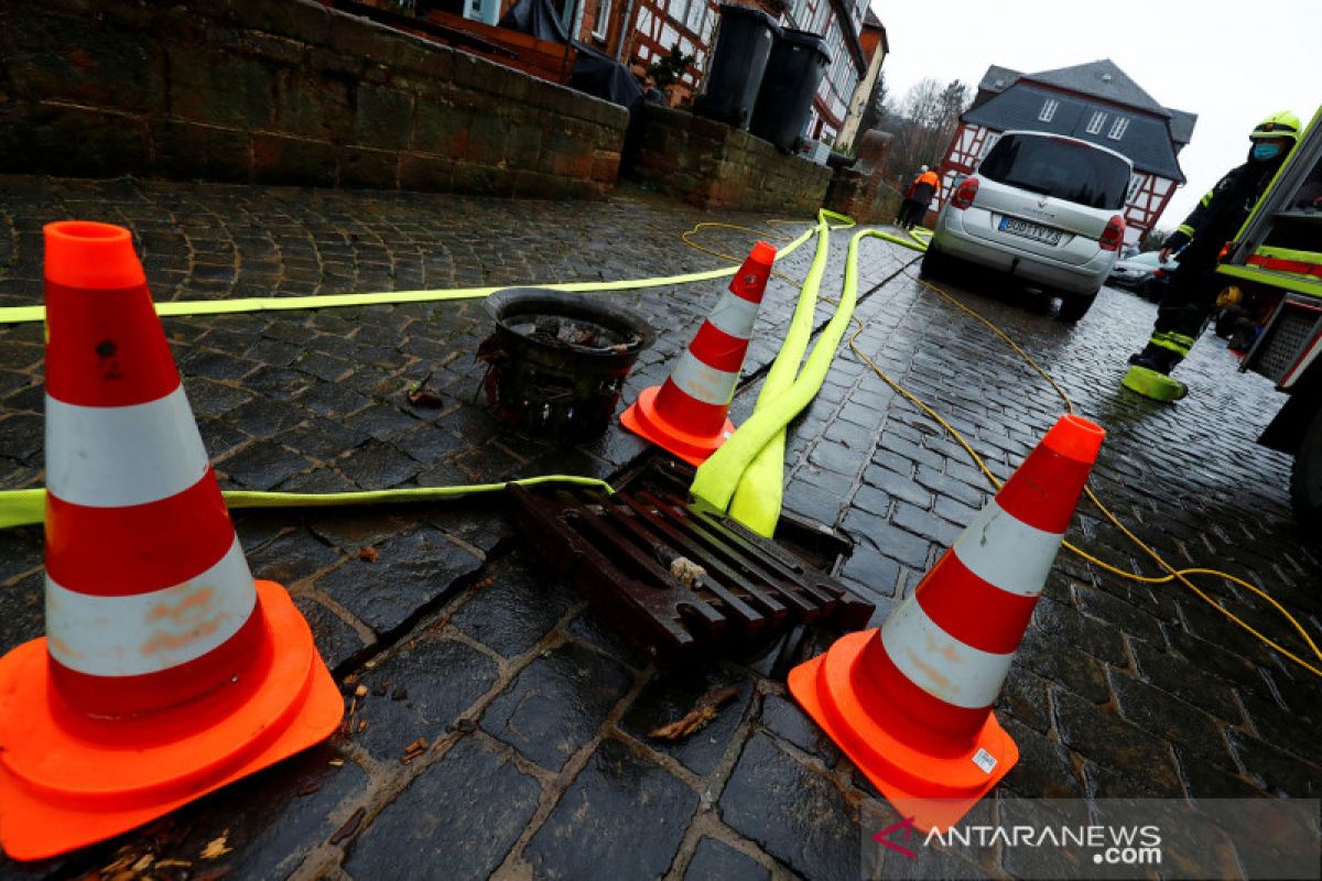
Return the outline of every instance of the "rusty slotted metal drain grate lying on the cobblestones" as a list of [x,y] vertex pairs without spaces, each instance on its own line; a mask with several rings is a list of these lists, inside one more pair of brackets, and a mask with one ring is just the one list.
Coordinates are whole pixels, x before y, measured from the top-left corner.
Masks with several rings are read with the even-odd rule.
[[506,493],[533,547],[660,660],[812,621],[862,627],[874,610],[784,548],[670,493]]

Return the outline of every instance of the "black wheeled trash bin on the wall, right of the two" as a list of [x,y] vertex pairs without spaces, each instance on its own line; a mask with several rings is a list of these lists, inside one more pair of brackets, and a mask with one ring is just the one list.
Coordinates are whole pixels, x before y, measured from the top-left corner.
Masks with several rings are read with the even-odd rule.
[[830,53],[824,38],[808,30],[783,28],[771,49],[748,131],[792,153],[829,66]]

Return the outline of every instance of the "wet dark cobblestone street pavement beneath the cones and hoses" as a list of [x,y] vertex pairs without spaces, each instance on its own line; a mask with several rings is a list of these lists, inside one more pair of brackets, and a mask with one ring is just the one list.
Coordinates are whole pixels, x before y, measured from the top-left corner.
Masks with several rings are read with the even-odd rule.
[[[680,243],[693,223],[764,226],[637,192],[588,205],[11,177],[0,178],[0,302],[40,297],[40,227],[66,217],[131,226],[156,297],[169,300],[672,275],[714,264]],[[750,243],[731,230],[702,238]],[[832,240],[828,292],[847,235]],[[1056,394],[978,321],[924,291],[912,252],[863,248],[859,346],[1006,477],[1062,411]],[[801,276],[809,258],[805,247],[783,269]],[[720,287],[619,295],[661,332],[627,399],[666,375]],[[1280,403],[1269,383],[1236,374],[1208,338],[1186,365],[1187,400],[1136,399],[1118,380],[1153,306],[1108,289],[1071,326],[1002,287],[956,293],[1109,429],[1093,477],[1107,503],[1166,559],[1268,588],[1319,635],[1322,563],[1289,518],[1289,462],[1252,442]],[[736,416],[793,296],[772,283]],[[230,487],[609,477],[644,450],[616,428],[561,448],[494,421],[477,395],[479,302],[167,318],[165,329]],[[41,354],[40,325],[0,329],[5,489],[41,481]],[[407,388],[428,374],[442,405],[408,404]],[[789,461],[787,506],[854,536],[842,573],[878,604],[876,621],[989,497],[964,452],[847,350],[792,428]],[[861,836],[873,831],[861,810],[878,795],[767,664],[727,659],[660,676],[546,573],[494,502],[235,519],[254,573],[290,588],[345,691],[368,689],[349,732],[148,835],[48,864],[0,863],[0,877],[78,876],[126,841],[194,863],[222,835],[231,852],[194,877],[857,877]],[[1155,571],[1087,505],[1069,540]],[[360,556],[365,547],[374,561]],[[41,634],[41,580],[40,531],[0,534],[0,650]],[[1264,602],[1203,581],[1298,647]],[[736,687],[738,699],[710,726],[681,744],[648,737],[714,686]],[[998,793],[1318,798],[1319,697],[1318,680],[1186,589],[1063,553],[999,701],[1022,758]],[[430,749],[405,763],[419,737]]]

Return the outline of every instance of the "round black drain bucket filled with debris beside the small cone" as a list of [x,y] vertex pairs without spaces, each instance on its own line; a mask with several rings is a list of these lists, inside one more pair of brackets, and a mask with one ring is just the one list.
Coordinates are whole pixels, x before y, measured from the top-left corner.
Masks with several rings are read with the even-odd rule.
[[580,441],[602,435],[624,379],[653,338],[646,321],[600,299],[509,288],[486,299],[496,329],[477,349],[497,415],[530,435]]

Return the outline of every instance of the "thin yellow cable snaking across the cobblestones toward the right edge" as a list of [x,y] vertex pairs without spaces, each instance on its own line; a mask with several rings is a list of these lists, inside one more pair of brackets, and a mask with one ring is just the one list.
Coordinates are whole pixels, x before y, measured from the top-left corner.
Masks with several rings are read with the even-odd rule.
[[[698,226],[702,226],[702,225],[698,225]],[[717,226],[717,225],[714,225],[714,226]],[[735,225],[728,225],[728,223],[722,223],[719,226],[726,227],[726,229],[742,229],[744,231],[758,232],[756,230],[751,230],[750,227],[738,227]],[[697,229],[698,227],[694,227],[694,230],[691,230],[691,232],[695,232]],[[931,232],[928,230],[920,230],[920,232],[921,234],[927,234],[928,236],[931,235]],[[686,234],[686,236],[687,236],[687,234]],[[713,254],[714,256],[719,256],[719,258],[723,258],[726,260],[739,262],[739,258],[735,258],[735,256],[731,256],[731,255],[727,255],[727,254],[720,254],[718,251],[714,251],[714,250],[698,246],[698,244],[693,243],[690,239],[687,239],[686,236],[681,236],[683,239],[685,244],[690,244],[691,247],[697,247],[701,251],[706,251],[707,254]],[[903,247],[912,248],[915,251],[925,251],[927,250],[927,243],[923,242],[923,239],[920,239],[916,235],[914,235],[912,232],[911,232],[911,239],[912,240],[902,239],[899,236],[894,236],[894,235],[890,235],[890,234],[886,234],[886,232],[875,232],[874,236],[879,238],[879,239],[884,239],[884,240],[891,242],[894,244],[899,244],[899,246],[903,246]],[[977,310],[974,310],[974,309],[964,305],[962,302],[960,302],[958,300],[956,300],[953,296],[948,295],[945,291],[941,291],[936,285],[929,284],[928,281],[925,281],[923,279],[916,279],[916,281],[919,281],[928,291],[935,292],[936,295],[941,296],[943,299],[945,299],[952,305],[957,306],[962,312],[968,313],[973,318],[977,318],[980,322],[982,322],[989,330],[992,330],[992,333],[994,333],[1006,345],[1009,345],[1021,358],[1023,358],[1023,361],[1030,367],[1032,367],[1032,370],[1035,370],[1043,379],[1046,379],[1051,384],[1051,387],[1056,391],[1056,394],[1064,402],[1066,408],[1068,409],[1068,412],[1071,412],[1071,413],[1075,412],[1073,402],[1069,400],[1069,396],[1066,394],[1064,388],[1062,388],[1060,384],[1056,383],[1056,380],[1052,379],[1051,375],[1036,361],[1034,361],[1034,358],[1027,351],[1025,351],[1014,339],[1011,339],[995,324],[993,324],[990,320],[988,320],[986,317],[984,317],[982,314],[980,314]],[[822,299],[822,301],[824,302],[832,302],[832,300],[828,300],[825,297]],[[941,428],[945,429],[945,432],[960,446],[964,448],[964,450],[969,454],[969,457],[978,466],[978,469],[982,472],[982,474],[986,476],[988,481],[990,481],[990,483],[995,489],[1001,489],[1001,481],[995,477],[995,474],[992,473],[992,470],[982,461],[982,457],[977,454],[977,452],[973,449],[973,446],[969,445],[969,442],[964,439],[964,436],[953,425],[951,425],[948,421],[945,421],[944,419],[941,419],[941,416],[937,415],[936,411],[933,411],[931,407],[928,407],[921,399],[919,399],[916,395],[911,394],[907,388],[904,388],[898,382],[895,382],[891,376],[888,376],[886,374],[886,371],[883,371],[880,367],[878,367],[876,363],[871,358],[869,358],[858,347],[858,342],[857,342],[858,341],[858,335],[863,332],[865,325],[857,317],[851,316],[851,320],[854,321],[854,324],[858,325],[858,329],[854,332],[854,334],[849,339],[849,346],[854,351],[854,354],[857,354],[865,363],[867,363],[867,366],[870,366],[876,372],[876,375],[880,376],[882,380],[886,382],[891,388],[894,388],[896,392],[899,392],[902,396],[904,396],[907,400],[910,400],[912,404],[915,404],[917,408],[920,408],[924,413],[927,413],[928,416],[931,416],[937,424],[940,424]],[[1245,588],[1245,589],[1251,590],[1252,593],[1255,593],[1256,596],[1261,597],[1263,600],[1266,600],[1266,602],[1270,604],[1270,606],[1273,609],[1276,609],[1277,612],[1280,612],[1281,616],[1285,617],[1286,621],[1289,621],[1290,626],[1300,634],[1300,637],[1303,639],[1303,642],[1307,643],[1309,649],[1318,658],[1318,660],[1322,662],[1322,649],[1318,649],[1318,645],[1313,641],[1313,638],[1309,635],[1307,630],[1303,629],[1303,626],[1300,623],[1300,621],[1293,614],[1290,614],[1290,612],[1288,609],[1285,609],[1285,606],[1282,606],[1280,602],[1277,602],[1277,600],[1274,597],[1272,597],[1268,592],[1263,590],[1261,588],[1259,588],[1255,584],[1251,584],[1251,582],[1248,582],[1248,581],[1245,581],[1243,579],[1239,579],[1239,577],[1236,577],[1236,576],[1233,576],[1233,575],[1231,575],[1228,572],[1222,572],[1219,569],[1207,569],[1207,568],[1177,569],[1177,568],[1174,568],[1173,565],[1170,565],[1169,563],[1166,563],[1166,560],[1154,548],[1151,548],[1147,543],[1145,543],[1142,539],[1140,539],[1137,535],[1134,535],[1134,532],[1130,531],[1124,523],[1121,523],[1120,519],[1110,511],[1110,509],[1108,509],[1105,505],[1103,505],[1101,499],[1097,498],[1097,495],[1092,491],[1091,487],[1085,486],[1084,487],[1084,493],[1088,495],[1088,501],[1092,502],[1092,505],[1099,511],[1101,511],[1101,514],[1113,526],[1116,526],[1116,528],[1118,528],[1129,540],[1132,540],[1134,544],[1137,544],[1140,548],[1142,548],[1145,553],[1147,553],[1150,557],[1153,557],[1153,560],[1155,560],[1155,563],[1162,569],[1166,571],[1166,575],[1163,575],[1163,576],[1144,576],[1144,575],[1138,575],[1138,573],[1134,573],[1134,572],[1128,572],[1125,569],[1120,569],[1120,568],[1117,568],[1117,567],[1114,567],[1114,565],[1112,565],[1109,563],[1105,563],[1104,560],[1100,560],[1100,559],[1095,557],[1093,555],[1091,555],[1087,551],[1084,551],[1084,549],[1081,549],[1081,548],[1071,544],[1069,542],[1064,542],[1063,546],[1069,552],[1072,552],[1072,553],[1083,557],[1088,563],[1092,563],[1093,565],[1096,565],[1097,568],[1103,569],[1104,572],[1109,572],[1109,573],[1112,573],[1112,575],[1114,575],[1117,577],[1128,579],[1130,581],[1137,581],[1137,582],[1141,582],[1141,584],[1170,584],[1173,581],[1179,581],[1182,585],[1185,585],[1186,588],[1188,588],[1196,597],[1199,597],[1203,602],[1206,602],[1207,605],[1210,605],[1214,609],[1216,609],[1219,613],[1222,613],[1223,616],[1225,616],[1229,621],[1232,621],[1233,623],[1236,623],[1239,627],[1241,627],[1247,633],[1252,634],[1256,639],[1259,639],[1260,642],[1263,642],[1265,646],[1270,647],[1272,650],[1274,650],[1276,652],[1278,652],[1281,656],[1288,658],[1289,660],[1294,662],[1296,664],[1298,664],[1303,670],[1307,670],[1313,675],[1322,678],[1322,667],[1314,666],[1313,663],[1310,663],[1310,662],[1305,660],[1303,658],[1298,656],[1297,654],[1294,654],[1289,649],[1285,649],[1284,646],[1278,645],[1277,642],[1274,642],[1273,639],[1270,639],[1265,634],[1260,633],[1251,623],[1248,623],[1247,621],[1244,621],[1243,618],[1240,618],[1239,616],[1236,616],[1235,613],[1232,613],[1229,609],[1227,609],[1227,608],[1222,606],[1219,602],[1216,602],[1211,596],[1208,596],[1196,584],[1194,584],[1192,581],[1190,581],[1186,576],[1206,575],[1206,576],[1211,576],[1211,577],[1223,579],[1225,581],[1229,581],[1231,584],[1236,584],[1236,585],[1239,585],[1241,588]]]

